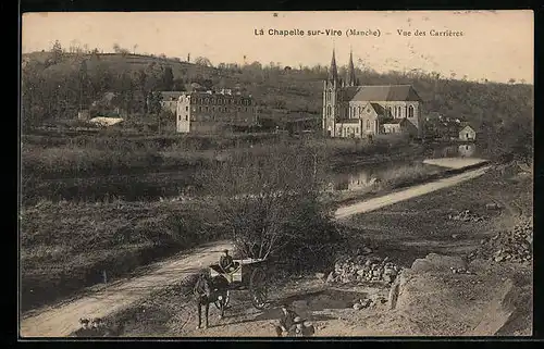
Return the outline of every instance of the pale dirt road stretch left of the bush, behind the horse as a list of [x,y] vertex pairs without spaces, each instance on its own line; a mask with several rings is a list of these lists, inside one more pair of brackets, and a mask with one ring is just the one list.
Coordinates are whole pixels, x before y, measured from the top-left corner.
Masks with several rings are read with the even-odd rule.
[[112,283],[101,290],[73,301],[37,311],[21,321],[22,337],[65,337],[79,327],[81,317],[106,317],[162,287],[218,261],[219,252],[232,248],[227,241],[209,244],[157,263],[153,272],[134,279]]

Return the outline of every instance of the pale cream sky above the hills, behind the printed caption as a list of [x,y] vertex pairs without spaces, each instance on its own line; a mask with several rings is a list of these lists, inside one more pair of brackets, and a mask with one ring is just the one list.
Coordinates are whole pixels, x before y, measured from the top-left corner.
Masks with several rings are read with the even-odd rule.
[[[119,43],[136,53],[182,60],[190,53],[213,64],[259,61],[298,67],[329,65],[334,48],[338,65],[347,64],[351,50],[356,65],[378,72],[417,68],[445,77],[454,73],[470,80],[532,84],[533,18],[530,10],[49,12],[25,13],[21,27],[23,53],[48,50],[59,40],[64,48],[76,43],[112,52]],[[269,35],[270,29],[298,32]],[[326,29],[342,33],[332,36]],[[374,35],[348,36],[349,29]],[[309,36],[309,30],[322,34]],[[431,35],[445,30],[462,35]]]

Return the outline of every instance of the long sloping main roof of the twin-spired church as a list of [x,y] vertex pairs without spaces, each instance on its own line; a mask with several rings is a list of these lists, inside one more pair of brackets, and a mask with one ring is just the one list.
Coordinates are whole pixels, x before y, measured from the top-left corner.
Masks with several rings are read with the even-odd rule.
[[421,101],[411,85],[353,86],[344,94],[348,101]]

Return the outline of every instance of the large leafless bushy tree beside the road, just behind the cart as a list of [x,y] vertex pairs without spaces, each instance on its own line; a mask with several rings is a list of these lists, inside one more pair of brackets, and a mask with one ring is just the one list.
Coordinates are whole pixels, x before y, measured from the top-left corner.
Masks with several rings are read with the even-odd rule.
[[319,200],[322,153],[301,144],[280,144],[261,154],[243,149],[202,175],[219,199],[221,225],[244,258],[308,259],[331,241],[330,217]]

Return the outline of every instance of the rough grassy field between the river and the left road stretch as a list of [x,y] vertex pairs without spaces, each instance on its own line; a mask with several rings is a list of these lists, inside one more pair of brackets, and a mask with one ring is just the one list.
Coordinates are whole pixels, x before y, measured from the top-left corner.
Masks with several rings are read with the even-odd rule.
[[[22,308],[221,236],[211,204],[42,201],[21,212]],[[208,222],[208,223],[205,223]]]

